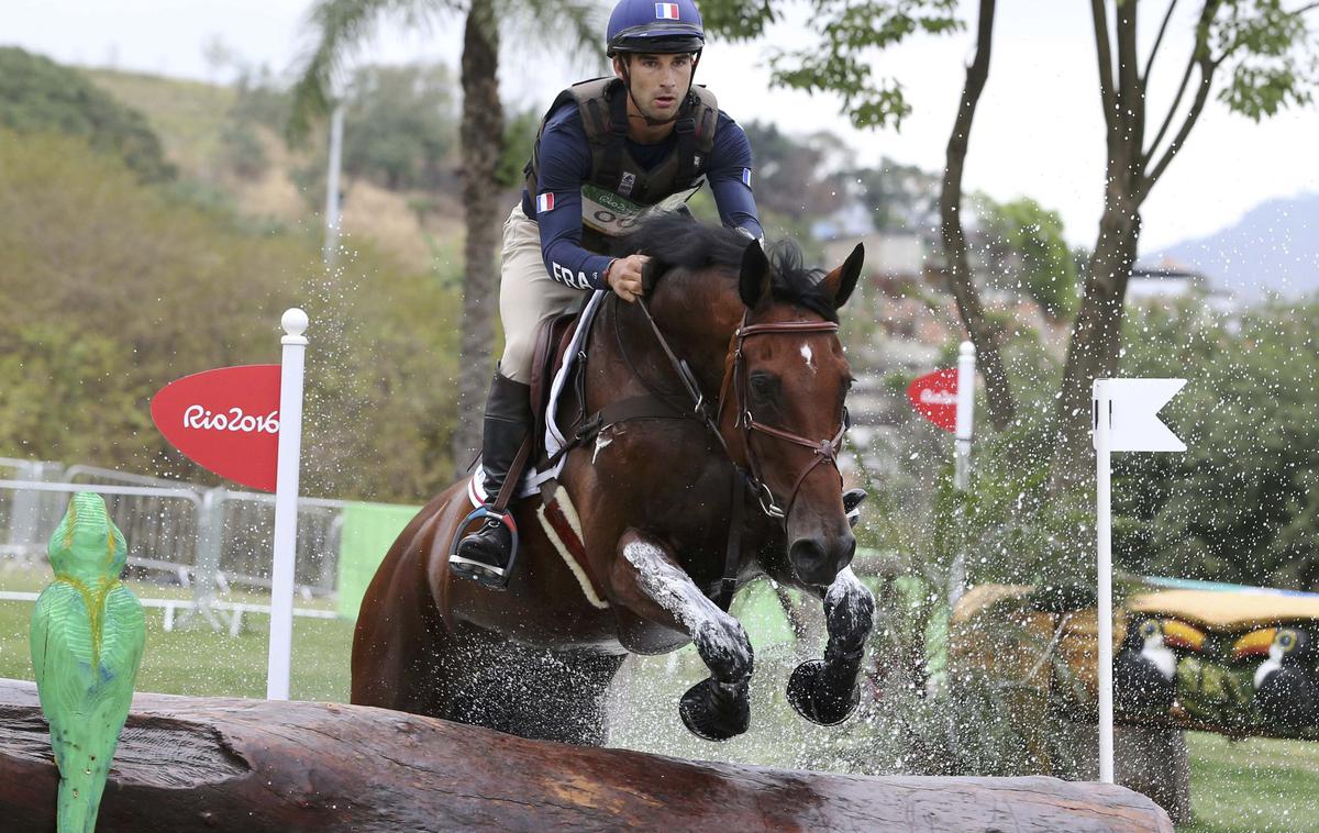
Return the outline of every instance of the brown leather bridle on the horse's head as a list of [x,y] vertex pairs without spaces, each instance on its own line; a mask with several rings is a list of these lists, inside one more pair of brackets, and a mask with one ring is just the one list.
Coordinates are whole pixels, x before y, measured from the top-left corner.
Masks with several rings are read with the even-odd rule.
[[[743,434],[743,447],[747,449],[747,468],[749,469],[747,481],[751,484],[756,493],[756,500],[760,501],[761,510],[770,518],[787,518],[787,514],[793,510],[793,503],[797,502],[797,493],[801,490],[802,484],[806,481],[806,476],[815,471],[820,463],[828,463],[838,472],[839,482],[843,481],[843,473],[838,471],[838,452],[843,447],[843,435],[847,432],[847,409],[843,410],[843,420],[839,424],[838,434],[834,439],[827,440],[813,440],[805,438],[799,434],[793,434],[790,431],[783,431],[782,428],[776,428],[768,426],[762,422],[757,422],[754,415],[751,413],[751,397],[747,391],[748,376],[747,376],[747,360],[743,353],[743,344],[751,336],[758,335],[799,335],[807,332],[838,332],[838,324],[834,322],[780,322],[774,324],[748,324],[748,314],[743,314],[743,323],[733,332],[733,337],[729,343],[729,352],[732,353],[732,368],[727,366],[724,370],[724,381],[719,390],[719,410],[715,413],[716,423],[723,416],[724,402],[728,399],[728,388],[733,389],[733,407],[737,409],[737,419],[733,423],[735,427],[741,428]],[[787,494],[787,503],[780,507],[774,501],[774,493],[770,490],[769,484],[765,482],[761,474],[760,459],[756,455],[756,449],[751,444],[751,435],[753,431],[760,431],[761,434],[782,440],[785,443],[791,443],[794,445],[801,445],[802,448],[809,448],[815,459],[802,469],[802,473],[797,476],[793,484],[793,490]]]

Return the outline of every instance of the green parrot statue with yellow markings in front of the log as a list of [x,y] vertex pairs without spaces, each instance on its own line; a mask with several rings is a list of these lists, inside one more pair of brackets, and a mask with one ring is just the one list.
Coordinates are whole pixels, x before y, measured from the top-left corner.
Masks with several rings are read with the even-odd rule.
[[124,534],[80,492],[50,536],[55,580],[32,613],[32,667],[59,767],[59,833],[91,833],[133,699],[146,625],[119,573]]

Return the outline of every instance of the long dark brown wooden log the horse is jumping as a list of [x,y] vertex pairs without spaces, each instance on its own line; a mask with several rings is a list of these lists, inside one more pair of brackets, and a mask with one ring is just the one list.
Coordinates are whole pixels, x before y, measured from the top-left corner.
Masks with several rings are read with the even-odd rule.
[[[32,683],[0,679],[0,819],[54,830]],[[1054,778],[865,778],[526,741],[386,709],[137,695],[98,829],[1173,833],[1145,796]]]

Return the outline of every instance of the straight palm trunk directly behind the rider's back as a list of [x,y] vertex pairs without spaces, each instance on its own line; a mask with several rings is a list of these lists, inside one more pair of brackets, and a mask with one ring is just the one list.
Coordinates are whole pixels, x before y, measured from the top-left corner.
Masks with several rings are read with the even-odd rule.
[[464,476],[481,445],[481,415],[493,370],[495,311],[500,235],[495,171],[504,148],[504,109],[499,98],[499,26],[491,0],[472,0],[463,32],[463,322],[458,374],[458,422],[451,444],[454,478]]

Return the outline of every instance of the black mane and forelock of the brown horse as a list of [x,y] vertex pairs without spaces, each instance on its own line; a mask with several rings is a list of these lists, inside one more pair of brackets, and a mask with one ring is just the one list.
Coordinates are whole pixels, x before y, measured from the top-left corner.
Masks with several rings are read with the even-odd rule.
[[[617,253],[649,254],[645,282],[654,287],[660,277],[674,268],[691,272],[723,266],[736,277],[743,252],[751,241],[735,228],[699,223],[681,214],[660,215],[637,227],[619,241]],[[803,265],[801,248],[791,240],[776,240],[765,246],[772,273],[774,299],[806,307],[827,322],[838,323],[834,295],[823,282],[823,269]]]

